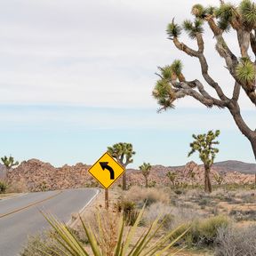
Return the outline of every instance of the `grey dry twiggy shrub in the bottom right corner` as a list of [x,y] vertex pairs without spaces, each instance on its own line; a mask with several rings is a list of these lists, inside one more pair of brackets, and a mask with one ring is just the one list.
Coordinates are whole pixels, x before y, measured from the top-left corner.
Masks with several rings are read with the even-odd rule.
[[219,228],[215,256],[255,256],[256,226],[248,228]]

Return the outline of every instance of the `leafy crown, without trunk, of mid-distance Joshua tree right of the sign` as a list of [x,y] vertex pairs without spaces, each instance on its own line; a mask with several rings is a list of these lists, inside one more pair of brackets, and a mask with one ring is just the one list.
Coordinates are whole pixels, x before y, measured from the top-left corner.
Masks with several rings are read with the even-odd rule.
[[191,151],[188,153],[188,156],[197,151],[201,161],[207,164],[207,166],[212,166],[216,154],[219,152],[218,148],[213,147],[213,145],[219,144],[219,141],[215,140],[219,135],[219,130],[216,132],[209,131],[207,134],[193,134],[195,140],[190,143]]

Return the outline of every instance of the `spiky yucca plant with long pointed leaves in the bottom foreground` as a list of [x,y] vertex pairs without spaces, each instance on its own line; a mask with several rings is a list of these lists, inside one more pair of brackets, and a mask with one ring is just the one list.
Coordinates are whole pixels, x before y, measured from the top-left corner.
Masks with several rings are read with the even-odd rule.
[[[89,250],[84,248],[84,245],[79,242],[66,224],[60,222],[60,220],[57,220],[51,214],[43,213],[44,218],[53,228],[54,232],[52,232],[52,238],[56,241],[58,250],[51,250],[51,248],[46,247],[46,245],[45,252],[44,249],[38,250],[43,253],[43,255],[53,256],[160,256],[175,255],[177,252],[180,252],[181,249],[175,251],[171,249],[173,244],[177,243],[177,241],[179,241],[180,238],[188,232],[189,228],[183,231],[180,236],[176,236],[175,238],[172,238],[173,235],[177,234],[177,231],[182,229],[183,226],[172,230],[165,236],[156,238],[156,234],[162,228],[164,223],[164,221],[159,223],[161,216],[156,218],[148,230],[146,230],[140,238],[135,241],[135,243],[132,241],[132,239],[134,240],[134,235],[144,210],[145,206],[140,211],[134,225],[129,228],[127,232],[125,232],[124,219],[121,215],[119,215],[118,218],[112,218],[112,220],[115,220],[113,222],[115,225],[113,225],[113,223],[110,225],[112,228],[106,228],[106,222],[104,222],[104,220],[107,219],[109,221],[109,218],[102,218],[100,214],[98,214],[97,218],[97,228],[92,228],[90,224],[84,223],[84,220],[80,217],[84,233],[88,238]],[[156,240],[154,238],[156,238]],[[172,241],[170,242],[171,238]],[[49,254],[49,250],[51,254]],[[172,252],[166,254],[169,250]]]

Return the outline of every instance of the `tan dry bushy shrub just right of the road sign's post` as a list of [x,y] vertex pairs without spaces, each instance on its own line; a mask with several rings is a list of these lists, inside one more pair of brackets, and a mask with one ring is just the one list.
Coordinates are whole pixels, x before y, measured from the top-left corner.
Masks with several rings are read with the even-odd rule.
[[145,203],[146,206],[156,202],[168,204],[170,196],[164,188],[140,188],[132,187],[124,194],[124,200],[135,202],[138,206],[142,207]]

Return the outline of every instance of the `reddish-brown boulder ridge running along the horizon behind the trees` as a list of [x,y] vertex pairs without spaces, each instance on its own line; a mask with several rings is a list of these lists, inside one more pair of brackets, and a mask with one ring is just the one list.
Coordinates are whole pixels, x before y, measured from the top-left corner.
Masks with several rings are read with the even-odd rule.
[[[237,166],[243,166],[244,172],[244,163],[236,165],[233,161],[228,161],[224,162],[224,164],[215,164],[211,173],[212,183],[216,183],[214,176],[223,177],[223,183],[253,183],[254,174],[237,172],[237,170],[240,170]],[[9,172],[8,180],[12,186],[19,184],[23,190],[29,191],[95,186],[98,183],[89,174],[89,168],[90,165],[86,164],[76,164],[73,166],[66,164],[62,167],[55,168],[52,164],[44,163],[37,159],[31,159],[22,162],[17,168]],[[203,184],[204,182],[204,167],[194,162],[189,162],[185,166],[178,167],[155,165],[152,167],[149,182],[165,185],[170,184],[170,180],[166,177],[167,172],[176,173],[176,184],[187,183],[196,185]],[[253,172],[253,170],[249,169],[248,172]],[[144,177],[139,170],[127,170],[127,179],[128,184],[144,185]],[[118,180],[119,184],[120,181],[121,179]],[[116,184],[118,184],[118,182]]]

